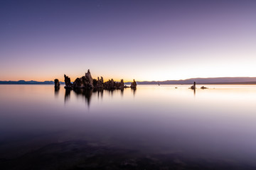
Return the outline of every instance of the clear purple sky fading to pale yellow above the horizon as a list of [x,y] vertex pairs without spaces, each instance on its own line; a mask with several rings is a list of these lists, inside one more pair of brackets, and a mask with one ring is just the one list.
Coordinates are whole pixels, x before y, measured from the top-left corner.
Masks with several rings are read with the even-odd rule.
[[256,77],[256,1],[0,1],[0,80]]

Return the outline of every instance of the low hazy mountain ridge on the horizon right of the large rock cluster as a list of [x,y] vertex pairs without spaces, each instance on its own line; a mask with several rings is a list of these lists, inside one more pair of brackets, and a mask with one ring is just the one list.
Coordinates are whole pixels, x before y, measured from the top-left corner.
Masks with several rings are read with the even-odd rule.
[[[137,84],[256,84],[256,77],[192,78],[166,81],[137,81]],[[126,84],[130,84],[127,82]]]

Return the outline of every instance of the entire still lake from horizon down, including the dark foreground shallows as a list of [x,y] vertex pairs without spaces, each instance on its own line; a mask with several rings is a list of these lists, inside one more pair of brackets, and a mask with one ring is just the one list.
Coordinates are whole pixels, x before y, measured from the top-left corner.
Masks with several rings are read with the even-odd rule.
[[256,169],[256,86],[188,87],[55,91],[53,85],[0,85],[0,164]]

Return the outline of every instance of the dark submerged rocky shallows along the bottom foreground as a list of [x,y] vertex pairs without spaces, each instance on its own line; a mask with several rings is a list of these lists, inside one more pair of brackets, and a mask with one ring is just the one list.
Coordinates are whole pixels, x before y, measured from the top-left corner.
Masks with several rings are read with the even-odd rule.
[[134,149],[122,149],[86,141],[53,143],[16,159],[0,159],[0,165],[1,169],[5,170],[252,170],[256,168],[225,159],[198,159],[179,153],[143,154]]

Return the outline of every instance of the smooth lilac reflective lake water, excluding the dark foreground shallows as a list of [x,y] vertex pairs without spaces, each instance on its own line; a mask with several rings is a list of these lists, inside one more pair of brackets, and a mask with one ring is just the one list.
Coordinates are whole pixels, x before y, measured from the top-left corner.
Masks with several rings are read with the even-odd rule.
[[0,85],[0,158],[85,140],[256,167],[256,86],[206,86],[55,91],[52,85]]

